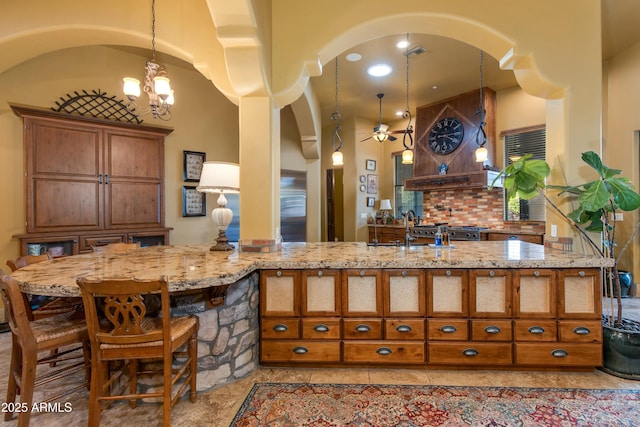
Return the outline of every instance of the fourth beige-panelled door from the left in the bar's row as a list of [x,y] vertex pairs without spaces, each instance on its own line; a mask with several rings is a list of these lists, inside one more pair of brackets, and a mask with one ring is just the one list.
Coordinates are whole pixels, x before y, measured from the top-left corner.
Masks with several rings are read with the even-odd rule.
[[422,270],[382,272],[385,317],[424,317],[427,298]]

